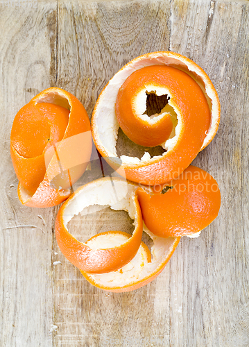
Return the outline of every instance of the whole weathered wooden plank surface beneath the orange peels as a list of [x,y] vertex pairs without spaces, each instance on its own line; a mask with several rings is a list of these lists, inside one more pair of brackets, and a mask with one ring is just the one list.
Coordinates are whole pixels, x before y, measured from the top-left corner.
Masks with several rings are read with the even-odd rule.
[[[248,1],[3,5],[1,346],[249,345],[248,18]],[[221,212],[198,239],[182,238],[157,280],[128,294],[109,294],[89,285],[60,253],[53,230],[58,208],[19,203],[9,153],[11,124],[22,105],[52,85],[75,94],[91,115],[98,94],[120,67],[160,50],[196,61],[220,96],[221,126],[195,164],[218,180]],[[97,171],[87,171],[77,185],[101,176]],[[87,232],[102,230],[114,215],[107,211],[105,219],[101,213],[94,221],[85,219]],[[126,214],[120,218],[130,229]],[[24,225],[36,228],[18,228]],[[53,265],[56,261],[61,264]]]

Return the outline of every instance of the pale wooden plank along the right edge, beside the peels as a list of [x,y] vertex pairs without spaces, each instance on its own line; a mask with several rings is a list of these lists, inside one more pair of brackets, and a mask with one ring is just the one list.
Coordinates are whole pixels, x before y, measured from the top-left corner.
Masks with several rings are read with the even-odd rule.
[[[182,252],[176,253],[188,278],[177,280],[184,296],[180,322],[185,328],[173,325],[173,336],[178,341],[192,341],[193,346],[249,344],[248,203],[244,198],[248,194],[249,158],[245,149],[248,5],[174,1],[172,7],[171,50],[183,53],[207,71],[222,111],[218,134],[195,160],[218,180],[221,212],[196,242],[182,239]],[[184,26],[179,26],[182,17]],[[175,310],[172,317],[177,319]]]

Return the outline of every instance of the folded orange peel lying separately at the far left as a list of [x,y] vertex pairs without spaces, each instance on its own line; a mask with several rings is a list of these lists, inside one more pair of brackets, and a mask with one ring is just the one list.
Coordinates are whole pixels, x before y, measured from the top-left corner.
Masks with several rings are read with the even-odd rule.
[[17,112],[10,154],[23,205],[46,208],[69,197],[91,156],[90,130],[82,103],[58,87],[37,94]]

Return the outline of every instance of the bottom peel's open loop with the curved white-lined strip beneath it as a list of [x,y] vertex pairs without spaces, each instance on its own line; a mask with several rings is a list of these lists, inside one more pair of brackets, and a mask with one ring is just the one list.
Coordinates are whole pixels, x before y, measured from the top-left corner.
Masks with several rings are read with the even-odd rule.
[[[132,236],[119,230],[102,232],[79,242],[67,230],[76,214],[89,213],[94,205],[126,210],[134,219]],[[142,230],[153,239],[151,253],[141,242]],[[62,253],[92,285],[108,291],[131,291],[151,282],[164,269],[180,237],[157,237],[143,226],[137,185],[123,178],[101,178],[80,187],[62,205],[55,221],[55,235]]]

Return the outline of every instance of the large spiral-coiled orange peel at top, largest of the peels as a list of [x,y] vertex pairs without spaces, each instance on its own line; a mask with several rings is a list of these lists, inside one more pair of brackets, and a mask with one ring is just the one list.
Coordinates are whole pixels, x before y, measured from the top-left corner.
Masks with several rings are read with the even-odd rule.
[[[160,114],[148,117],[146,94],[151,93],[169,99]],[[92,135],[112,167],[115,160],[108,158],[117,158],[119,127],[137,144],[160,144],[166,152],[153,158],[121,155],[126,178],[156,185],[189,167],[214,138],[219,120],[218,94],[205,71],[178,53],[153,52],[128,62],[105,86],[94,107]]]

